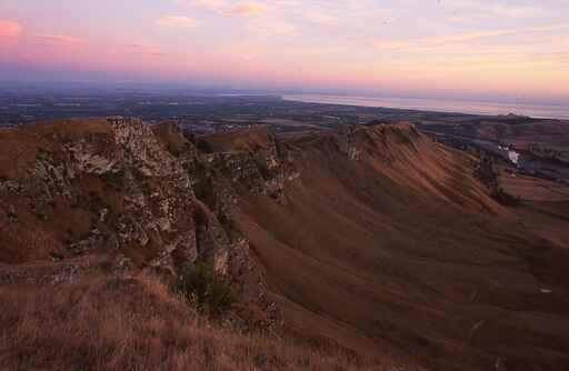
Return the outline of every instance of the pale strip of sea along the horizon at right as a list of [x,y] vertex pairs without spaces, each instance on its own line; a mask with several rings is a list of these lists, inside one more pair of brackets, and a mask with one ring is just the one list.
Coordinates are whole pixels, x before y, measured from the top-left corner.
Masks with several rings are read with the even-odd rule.
[[532,118],[569,120],[569,106],[557,104],[501,103],[472,100],[379,98],[333,94],[283,94],[282,98],[286,100],[311,103],[399,108],[418,111],[459,112],[470,114],[513,113]]

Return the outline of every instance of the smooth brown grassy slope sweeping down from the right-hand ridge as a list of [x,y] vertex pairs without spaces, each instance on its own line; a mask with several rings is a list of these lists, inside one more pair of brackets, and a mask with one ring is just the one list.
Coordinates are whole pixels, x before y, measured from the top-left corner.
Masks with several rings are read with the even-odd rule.
[[287,148],[300,181],[243,197],[236,222],[290,328],[433,370],[569,365],[567,253],[490,199],[472,158],[410,126]]

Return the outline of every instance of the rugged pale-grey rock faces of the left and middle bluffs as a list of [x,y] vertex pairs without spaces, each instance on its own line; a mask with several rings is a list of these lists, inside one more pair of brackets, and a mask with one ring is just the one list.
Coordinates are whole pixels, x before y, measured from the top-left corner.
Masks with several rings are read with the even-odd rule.
[[[14,147],[33,153],[9,163],[12,153],[0,149],[0,163],[12,167],[0,171],[0,261],[104,254],[167,274],[209,262],[244,301],[271,307],[231,210],[236,183],[259,192],[283,187],[274,146],[200,154],[176,124],[122,117],[18,130],[27,136]],[[0,142],[2,134],[13,137],[2,132]]]

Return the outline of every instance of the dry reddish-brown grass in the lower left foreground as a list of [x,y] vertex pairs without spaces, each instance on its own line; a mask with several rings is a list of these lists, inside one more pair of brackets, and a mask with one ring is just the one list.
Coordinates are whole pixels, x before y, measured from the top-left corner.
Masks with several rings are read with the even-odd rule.
[[0,288],[1,370],[381,370],[210,323],[157,280]]

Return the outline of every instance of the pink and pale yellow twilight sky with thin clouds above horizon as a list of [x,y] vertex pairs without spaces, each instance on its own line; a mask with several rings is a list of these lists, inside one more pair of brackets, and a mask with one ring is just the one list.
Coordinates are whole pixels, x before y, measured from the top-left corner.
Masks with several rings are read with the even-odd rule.
[[1,0],[0,81],[569,102],[569,0]]

